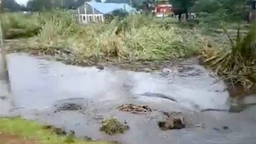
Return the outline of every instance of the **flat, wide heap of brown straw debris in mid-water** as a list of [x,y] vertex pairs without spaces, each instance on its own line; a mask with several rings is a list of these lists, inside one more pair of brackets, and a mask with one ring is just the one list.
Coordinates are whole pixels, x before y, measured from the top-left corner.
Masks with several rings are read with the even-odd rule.
[[120,111],[126,111],[135,114],[148,113],[152,111],[152,109],[148,106],[138,106],[135,104],[123,104],[121,106],[118,106],[117,109],[119,109]]

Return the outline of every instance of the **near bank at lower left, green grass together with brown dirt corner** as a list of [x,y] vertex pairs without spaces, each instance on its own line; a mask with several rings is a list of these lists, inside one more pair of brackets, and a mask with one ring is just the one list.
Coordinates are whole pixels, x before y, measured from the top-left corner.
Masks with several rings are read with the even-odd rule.
[[103,141],[83,141],[71,136],[54,134],[51,129],[43,129],[42,125],[20,118],[0,118],[1,144],[108,144]]

